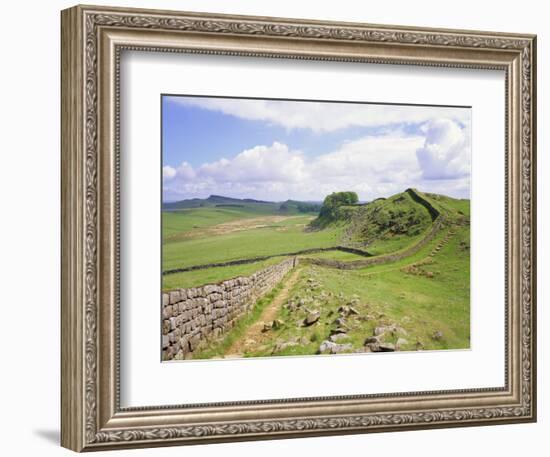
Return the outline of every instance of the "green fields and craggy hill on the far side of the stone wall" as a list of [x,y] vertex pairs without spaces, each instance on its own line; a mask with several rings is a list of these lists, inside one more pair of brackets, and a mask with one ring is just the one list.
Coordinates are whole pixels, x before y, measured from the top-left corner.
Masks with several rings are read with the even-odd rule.
[[[162,214],[163,270],[338,245],[360,248],[375,256],[388,254],[422,240],[431,230],[434,214],[442,213],[453,221],[465,222],[469,218],[468,200],[413,190],[367,204],[340,206],[333,213],[334,219],[322,227],[314,222],[316,213],[301,212],[314,208],[314,203],[295,200],[273,203],[210,196],[178,204],[187,207]],[[308,256],[340,261],[357,258],[355,254],[339,251]],[[165,275],[163,287],[216,282],[251,274],[263,266],[262,262],[256,262],[247,266]]]

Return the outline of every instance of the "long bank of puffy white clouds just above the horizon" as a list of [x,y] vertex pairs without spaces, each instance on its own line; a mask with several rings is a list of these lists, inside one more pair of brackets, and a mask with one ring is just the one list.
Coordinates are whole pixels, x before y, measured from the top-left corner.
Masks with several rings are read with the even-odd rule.
[[469,167],[467,128],[444,119],[427,122],[417,135],[389,131],[315,157],[274,142],[195,169],[187,162],[165,167],[164,197],[322,200],[331,192],[352,190],[371,200],[408,187],[468,197]]

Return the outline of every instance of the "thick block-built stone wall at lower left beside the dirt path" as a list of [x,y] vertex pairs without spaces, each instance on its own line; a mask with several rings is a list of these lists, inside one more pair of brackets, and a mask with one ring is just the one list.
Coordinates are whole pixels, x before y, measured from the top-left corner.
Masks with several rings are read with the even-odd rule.
[[298,263],[296,257],[251,276],[162,294],[162,359],[190,358],[252,309]]

